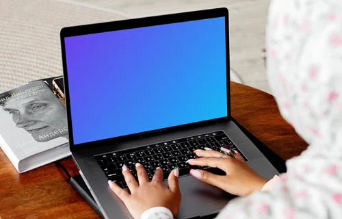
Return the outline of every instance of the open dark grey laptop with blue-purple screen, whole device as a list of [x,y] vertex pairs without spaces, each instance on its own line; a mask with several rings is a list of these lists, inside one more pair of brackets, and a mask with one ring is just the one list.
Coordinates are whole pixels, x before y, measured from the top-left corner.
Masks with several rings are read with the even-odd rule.
[[127,188],[124,164],[135,177],[143,164],[150,179],[158,166],[164,179],[179,168],[177,218],[217,214],[235,197],[189,175],[195,149],[229,145],[263,177],[278,174],[231,120],[226,8],[65,27],[60,36],[70,151],[105,218],[131,218],[107,184]]

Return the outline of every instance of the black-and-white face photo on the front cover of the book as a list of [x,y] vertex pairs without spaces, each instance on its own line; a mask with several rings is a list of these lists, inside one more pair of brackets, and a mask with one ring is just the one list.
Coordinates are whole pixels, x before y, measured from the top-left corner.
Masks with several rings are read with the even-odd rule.
[[0,103],[1,110],[12,116],[18,129],[27,131],[37,142],[68,138],[66,109],[44,82],[10,90],[1,94],[0,99],[5,99]]

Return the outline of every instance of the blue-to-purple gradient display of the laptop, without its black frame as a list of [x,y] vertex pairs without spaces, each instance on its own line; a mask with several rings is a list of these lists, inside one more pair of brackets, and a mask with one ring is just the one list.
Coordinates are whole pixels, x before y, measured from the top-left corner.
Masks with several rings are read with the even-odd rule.
[[64,38],[74,144],[227,116],[224,22]]

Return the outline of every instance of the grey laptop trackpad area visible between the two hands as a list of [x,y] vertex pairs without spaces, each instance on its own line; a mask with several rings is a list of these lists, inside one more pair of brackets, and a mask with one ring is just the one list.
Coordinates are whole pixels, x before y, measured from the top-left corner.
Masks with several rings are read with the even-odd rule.
[[226,206],[231,198],[235,197],[192,176],[180,177],[179,185],[182,201],[176,218],[183,219],[215,214]]

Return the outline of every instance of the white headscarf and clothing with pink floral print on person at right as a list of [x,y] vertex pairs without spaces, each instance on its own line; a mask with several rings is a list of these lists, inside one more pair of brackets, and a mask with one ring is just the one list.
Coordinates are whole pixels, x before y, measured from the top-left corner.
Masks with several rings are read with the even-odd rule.
[[267,74],[282,116],[310,145],[269,192],[218,218],[342,218],[342,0],[273,0]]

